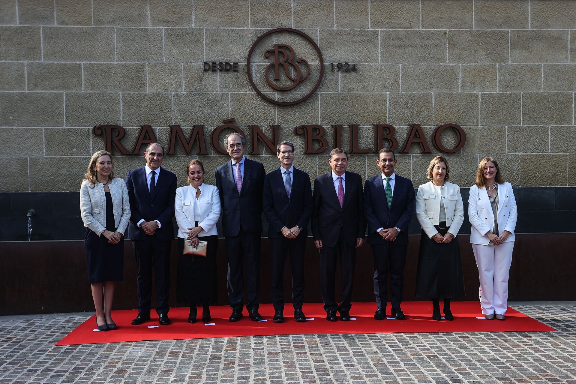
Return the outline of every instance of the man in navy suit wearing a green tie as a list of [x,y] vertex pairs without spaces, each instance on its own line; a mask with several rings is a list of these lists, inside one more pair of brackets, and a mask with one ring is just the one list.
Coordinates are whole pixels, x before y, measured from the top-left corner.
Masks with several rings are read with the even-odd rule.
[[382,172],[364,184],[364,214],[374,256],[374,295],[378,306],[374,318],[386,318],[389,272],[392,316],[405,320],[400,303],[408,225],[414,215],[414,187],[410,179],[394,173],[397,160],[393,151],[381,149],[376,162]]

